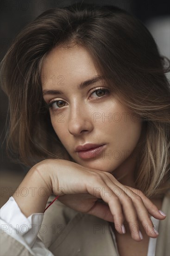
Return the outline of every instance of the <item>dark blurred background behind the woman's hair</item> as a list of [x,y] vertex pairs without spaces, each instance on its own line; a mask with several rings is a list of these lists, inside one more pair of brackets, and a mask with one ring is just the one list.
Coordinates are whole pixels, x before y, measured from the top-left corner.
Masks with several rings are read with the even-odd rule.
[[[99,6],[113,5],[132,13],[150,30],[160,53],[170,58],[170,3],[168,0],[1,0],[0,61],[12,40],[26,24],[50,8],[63,7],[76,2],[95,3]],[[169,74],[167,76],[170,77]],[[6,155],[4,138],[7,108],[7,97],[0,90],[0,207],[9,196],[13,195],[28,171],[28,168],[13,163],[12,158]]]

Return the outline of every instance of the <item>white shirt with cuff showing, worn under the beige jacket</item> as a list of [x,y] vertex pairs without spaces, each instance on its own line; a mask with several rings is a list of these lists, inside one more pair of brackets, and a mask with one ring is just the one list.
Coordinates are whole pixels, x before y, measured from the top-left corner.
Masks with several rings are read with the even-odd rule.
[[[26,217],[13,196],[0,209],[0,229],[4,231],[19,243],[23,244],[26,249],[34,256],[54,256],[47,249],[42,241],[37,237],[38,232],[45,232],[45,227],[42,225],[44,213],[34,213]],[[151,221],[158,229],[159,220],[151,216]],[[117,248],[115,235],[111,229],[114,244]],[[149,239],[147,256],[155,256],[157,238]]]

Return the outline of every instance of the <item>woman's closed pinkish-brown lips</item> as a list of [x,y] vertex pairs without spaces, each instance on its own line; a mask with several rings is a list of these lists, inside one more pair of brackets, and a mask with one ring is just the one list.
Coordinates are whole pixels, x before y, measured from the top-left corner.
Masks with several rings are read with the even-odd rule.
[[101,155],[101,152],[103,151],[105,146],[106,144],[98,146],[96,148],[89,148],[87,150],[78,151],[77,154],[82,159],[91,159],[91,158],[96,159],[98,155]]

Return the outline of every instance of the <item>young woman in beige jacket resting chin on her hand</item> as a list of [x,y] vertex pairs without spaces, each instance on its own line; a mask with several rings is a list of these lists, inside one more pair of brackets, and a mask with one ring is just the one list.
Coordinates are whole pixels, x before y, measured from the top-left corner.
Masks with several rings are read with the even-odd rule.
[[30,170],[1,208],[3,255],[170,254],[169,64],[117,7],[50,9],[17,35],[1,85]]

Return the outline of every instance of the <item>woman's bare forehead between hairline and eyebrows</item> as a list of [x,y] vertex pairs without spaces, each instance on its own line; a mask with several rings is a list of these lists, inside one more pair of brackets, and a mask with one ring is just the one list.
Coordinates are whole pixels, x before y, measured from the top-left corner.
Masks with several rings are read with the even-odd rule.
[[77,81],[81,83],[92,77],[98,76],[94,63],[88,51],[82,47],[54,48],[44,59],[41,69],[41,81],[49,85],[54,84],[54,79],[63,77],[65,82]]

